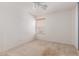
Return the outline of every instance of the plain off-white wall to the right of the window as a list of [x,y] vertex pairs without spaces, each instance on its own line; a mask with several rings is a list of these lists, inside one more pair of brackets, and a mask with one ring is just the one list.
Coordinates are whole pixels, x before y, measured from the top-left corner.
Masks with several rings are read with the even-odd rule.
[[45,34],[38,35],[38,39],[74,44],[72,13],[72,10],[65,10],[48,15],[44,27]]

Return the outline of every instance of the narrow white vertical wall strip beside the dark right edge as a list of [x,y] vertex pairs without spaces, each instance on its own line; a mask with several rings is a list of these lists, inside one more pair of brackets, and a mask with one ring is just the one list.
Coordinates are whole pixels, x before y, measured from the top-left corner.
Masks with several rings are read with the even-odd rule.
[[73,33],[73,38],[74,38],[74,46],[76,47],[76,49],[78,49],[78,4],[76,3],[75,8],[73,9],[74,11],[74,20],[73,20],[73,29],[74,29],[74,33]]

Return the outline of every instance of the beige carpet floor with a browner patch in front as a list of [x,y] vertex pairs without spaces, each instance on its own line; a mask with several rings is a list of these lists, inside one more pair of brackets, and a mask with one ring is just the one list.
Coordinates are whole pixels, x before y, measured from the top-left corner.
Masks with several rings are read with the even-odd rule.
[[6,56],[76,56],[77,52],[72,45],[54,43],[43,40],[33,40],[17,48],[11,49]]

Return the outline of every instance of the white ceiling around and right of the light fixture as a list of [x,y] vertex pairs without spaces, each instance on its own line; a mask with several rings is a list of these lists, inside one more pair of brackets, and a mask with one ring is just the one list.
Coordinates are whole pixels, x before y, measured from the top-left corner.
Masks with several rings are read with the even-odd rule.
[[[39,13],[36,13],[36,14],[41,14],[41,13],[49,14],[49,13],[58,12],[58,11],[70,10],[70,9],[73,9],[76,4],[75,2],[45,2],[45,3],[48,6],[47,10],[42,10],[44,12],[40,10]],[[32,3],[29,3],[29,4],[32,5]],[[33,9],[31,9],[31,11],[34,12]]]

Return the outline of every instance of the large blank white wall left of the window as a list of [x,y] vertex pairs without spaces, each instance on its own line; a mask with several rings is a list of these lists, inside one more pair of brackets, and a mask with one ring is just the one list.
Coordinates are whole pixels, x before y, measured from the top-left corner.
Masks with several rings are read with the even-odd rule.
[[0,3],[0,51],[33,40],[34,19],[21,5]]

